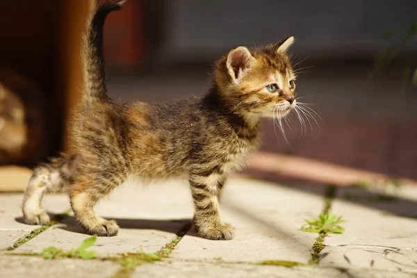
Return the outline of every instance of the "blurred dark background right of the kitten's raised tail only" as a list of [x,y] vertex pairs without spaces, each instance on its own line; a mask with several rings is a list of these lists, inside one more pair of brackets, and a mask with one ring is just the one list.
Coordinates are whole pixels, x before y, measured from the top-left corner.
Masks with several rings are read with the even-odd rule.
[[[215,59],[231,47],[294,35],[293,59],[302,61],[297,68],[308,67],[297,92],[322,122],[310,119],[313,129],[300,138],[294,119],[288,144],[267,121],[261,150],[417,179],[417,90],[404,83],[405,69],[417,66],[416,35],[372,77],[375,56],[402,42],[416,22],[416,1],[138,1],[128,3],[126,15],[129,9],[142,15],[137,30],[124,36],[138,36],[132,48],[140,51],[131,58],[117,59],[111,39],[120,35],[123,16],[111,15],[106,25],[114,97],[155,102],[202,95]],[[389,40],[382,38],[387,31],[395,32]]]

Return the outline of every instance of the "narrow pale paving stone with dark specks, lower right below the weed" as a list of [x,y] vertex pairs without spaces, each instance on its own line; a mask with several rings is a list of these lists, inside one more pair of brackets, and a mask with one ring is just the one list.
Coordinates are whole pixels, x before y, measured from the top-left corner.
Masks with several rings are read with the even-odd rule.
[[327,246],[320,266],[417,273],[417,250],[373,246]]

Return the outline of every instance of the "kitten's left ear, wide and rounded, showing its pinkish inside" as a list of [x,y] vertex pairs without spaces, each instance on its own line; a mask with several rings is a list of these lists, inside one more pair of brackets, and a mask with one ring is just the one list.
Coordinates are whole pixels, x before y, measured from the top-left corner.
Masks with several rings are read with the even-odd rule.
[[246,47],[236,47],[227,55],[226,66],[231,79],[236,83],[254,62],[254,57]]

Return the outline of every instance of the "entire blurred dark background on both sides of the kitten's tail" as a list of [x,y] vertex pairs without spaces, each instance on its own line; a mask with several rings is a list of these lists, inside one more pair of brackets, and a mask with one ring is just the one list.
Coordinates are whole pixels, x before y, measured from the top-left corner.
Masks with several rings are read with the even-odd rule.
[[[66,149],[89,1],[7,1],[2,10],[0,82],[25,116],[0,111],[24,126],[11,136],[23,151],[5,151],[1,163],[31,166]],[[261,151],[417,179],[417,1],[128,0],[105,26],[108,88],[122,101],[203,95],[229,49],[289,35],[297,94],[321,120],[306,120],[300,137],[293,117],[289,143],[264,122]]]

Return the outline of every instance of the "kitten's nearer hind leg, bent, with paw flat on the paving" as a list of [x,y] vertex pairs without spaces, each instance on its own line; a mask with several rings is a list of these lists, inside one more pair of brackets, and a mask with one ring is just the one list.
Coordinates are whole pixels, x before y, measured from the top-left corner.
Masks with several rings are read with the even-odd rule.
[[99,199],[108,195],[114,188],[122,184],[124,179],[104,179],[95,174],[83,175],[77,178],[71,189],[70,200],[72,211],[81,227],[88,234],[97,236],[116,236],[119,226],[115,220],[106,220],[94,212],[94,206]]

